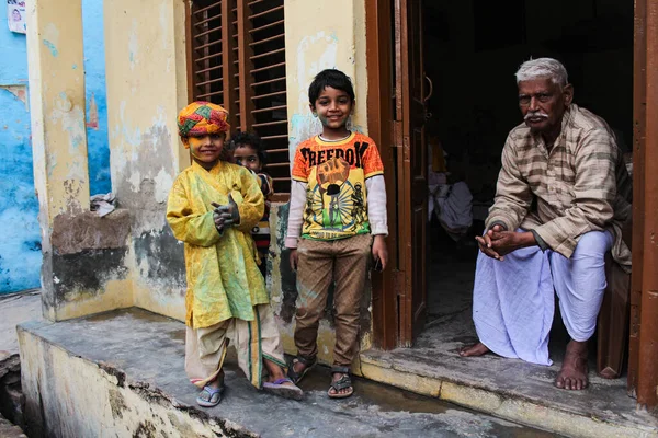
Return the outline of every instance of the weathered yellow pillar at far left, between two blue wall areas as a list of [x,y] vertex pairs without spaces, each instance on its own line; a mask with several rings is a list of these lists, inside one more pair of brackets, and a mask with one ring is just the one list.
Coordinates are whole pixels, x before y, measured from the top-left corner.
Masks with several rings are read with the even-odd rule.
[[30,4],[27,56],[35,187],[45,250],[57,215],[89,209],[82,9]]

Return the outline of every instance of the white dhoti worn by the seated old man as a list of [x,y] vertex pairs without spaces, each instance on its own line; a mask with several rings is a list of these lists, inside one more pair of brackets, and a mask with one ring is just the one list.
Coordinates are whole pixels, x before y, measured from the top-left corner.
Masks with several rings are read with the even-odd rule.
[[606,286],[604,257],[613,241],[610,232],[588,232],[571,258],[537,246],[514,251],[502,262],[480,253],[473,291],[479,341],[497,355],[552,365],[554,290],[569,336],[589,339]]

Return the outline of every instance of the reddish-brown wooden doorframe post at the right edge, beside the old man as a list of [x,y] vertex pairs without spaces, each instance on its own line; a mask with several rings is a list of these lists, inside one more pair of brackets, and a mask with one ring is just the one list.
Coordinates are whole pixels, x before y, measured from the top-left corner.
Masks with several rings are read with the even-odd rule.
[[[628,391],[658,406],[658,0],[635,0]],[[653,120],[654,123],[649,123]]]

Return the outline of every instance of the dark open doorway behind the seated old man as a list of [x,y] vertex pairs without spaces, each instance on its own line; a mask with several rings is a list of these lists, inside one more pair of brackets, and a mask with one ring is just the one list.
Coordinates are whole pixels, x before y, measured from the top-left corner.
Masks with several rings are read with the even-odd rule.
[[[423,2],[423,65],[433,93],[424,125],[427,318],[417,348],[447,351],[476,341],[474,238],[494,201],[506,137],[522,122],[514,72],[524,60],[563,61],[575,102],[603,117],[629,155],[633,14],[629,0]],[[557,361],[565,336],[556,314]]]

